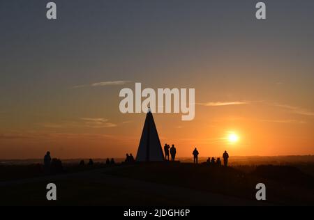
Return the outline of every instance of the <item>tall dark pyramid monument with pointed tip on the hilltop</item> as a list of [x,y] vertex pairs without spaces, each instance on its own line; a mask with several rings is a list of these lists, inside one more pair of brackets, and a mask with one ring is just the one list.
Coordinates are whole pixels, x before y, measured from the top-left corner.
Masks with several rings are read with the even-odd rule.
[[153,114],[149,109],[143,127],[140,146],[138,146],[136,161],[163,162],[164,159]]

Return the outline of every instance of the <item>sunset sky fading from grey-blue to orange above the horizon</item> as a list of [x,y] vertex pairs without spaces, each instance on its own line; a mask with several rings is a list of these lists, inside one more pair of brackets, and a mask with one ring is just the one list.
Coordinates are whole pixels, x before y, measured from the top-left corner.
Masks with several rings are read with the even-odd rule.
[[0,1],[0,159],[136,155],[135,82],[195,88],[194,120],[154,114],[177,157],[314,154],[314,1],[47,2]]

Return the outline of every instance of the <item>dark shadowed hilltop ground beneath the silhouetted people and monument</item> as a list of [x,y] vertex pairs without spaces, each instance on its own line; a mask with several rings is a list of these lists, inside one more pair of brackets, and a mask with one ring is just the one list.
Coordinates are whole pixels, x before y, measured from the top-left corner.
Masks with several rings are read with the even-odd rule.
[[[1,166],[0,205],[314,205],[314,177],[296,166],[94,164],[64,170],[43,175],[39,165]],[[50,182],[57,184],[57,201],[46,200]],[[266,202],[255,200],[259,182],[267,186]]]

